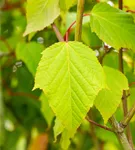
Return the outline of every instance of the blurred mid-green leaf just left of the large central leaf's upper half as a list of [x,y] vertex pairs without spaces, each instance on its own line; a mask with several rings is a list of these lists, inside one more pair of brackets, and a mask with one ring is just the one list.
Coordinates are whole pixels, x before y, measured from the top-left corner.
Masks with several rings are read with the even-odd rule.
[[41,58],[41,52],[43,51],[43,46],[31,42],[31,43],[19,43],[16,48],[16,57],[21,59],[28,67],[29,71],[34,76],[36,73],[36,68]]

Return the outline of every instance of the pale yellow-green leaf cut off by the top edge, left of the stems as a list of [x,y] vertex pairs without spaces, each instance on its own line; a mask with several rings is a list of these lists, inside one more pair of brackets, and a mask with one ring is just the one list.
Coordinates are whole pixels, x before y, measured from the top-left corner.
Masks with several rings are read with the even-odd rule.
[[59,0],[28,0],[27,1],[27,27],[24,36],[43,30],[59,16]]

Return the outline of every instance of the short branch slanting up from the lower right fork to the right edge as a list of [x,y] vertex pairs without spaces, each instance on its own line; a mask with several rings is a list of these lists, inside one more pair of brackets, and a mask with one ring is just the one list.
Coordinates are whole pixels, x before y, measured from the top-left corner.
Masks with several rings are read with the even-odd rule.
[[130,120],[132,119],[132,117],[135,115],[135,104],[133,105],[133,107],[130,109],[130,111],[127,113],[127,115],[125,116],[125,118],[121,121],[121,126],[123,128],[126,128],[126,126],[129,124]]

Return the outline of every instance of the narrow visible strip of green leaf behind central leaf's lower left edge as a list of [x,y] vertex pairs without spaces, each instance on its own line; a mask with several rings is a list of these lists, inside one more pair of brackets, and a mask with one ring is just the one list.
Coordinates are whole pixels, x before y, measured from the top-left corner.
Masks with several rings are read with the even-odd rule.
[[50,127],[52,120],[54,118],[54,114],[49,106],[48,99],[44,93],[41,94],[39,99],[41,100],[41,111],[43,113],[45,120],[48,123],[48,126]]

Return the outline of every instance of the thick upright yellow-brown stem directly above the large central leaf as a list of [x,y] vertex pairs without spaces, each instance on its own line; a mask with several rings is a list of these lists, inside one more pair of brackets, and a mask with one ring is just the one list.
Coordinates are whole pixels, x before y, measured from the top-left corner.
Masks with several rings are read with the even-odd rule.
[[85,0],[78,0],[76,28],[75,28],[75,40],[76,41],[81,41],[84,3],[85,3]]

